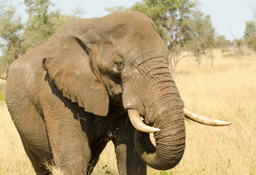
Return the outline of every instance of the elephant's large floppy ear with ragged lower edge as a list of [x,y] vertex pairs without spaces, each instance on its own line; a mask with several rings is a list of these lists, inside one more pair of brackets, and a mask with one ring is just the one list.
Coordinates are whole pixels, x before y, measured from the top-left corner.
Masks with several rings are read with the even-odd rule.
[[45,43],[47,49],[42,66],[63,96],[77,102],[86,112],[106,116],[109,96],[99,71],[92,69],[96,50],[91,47],[98,38],[93,33],[96,20],[76,20],[57,31]]

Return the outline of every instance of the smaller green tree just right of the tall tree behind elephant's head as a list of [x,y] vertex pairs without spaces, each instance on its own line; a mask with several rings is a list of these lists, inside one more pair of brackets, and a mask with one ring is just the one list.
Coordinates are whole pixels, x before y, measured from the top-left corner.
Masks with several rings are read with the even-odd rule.
[[212,26],[210,15],[205,15],[203,12],[197,10],[192,13],[190,18],[189,39],[187,39],[186,46],[195,55],[198,66],[201,66],[202,55],[206,54],[206,49],[210,50],[210,58],[213,66],[213,47],[215,45],[215,32]]

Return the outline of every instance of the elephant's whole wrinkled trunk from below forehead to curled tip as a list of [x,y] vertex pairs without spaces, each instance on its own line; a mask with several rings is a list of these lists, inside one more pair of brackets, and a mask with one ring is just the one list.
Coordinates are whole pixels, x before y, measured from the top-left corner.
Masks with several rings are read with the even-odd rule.
[[[123,106],[137,129],[134,136],[136,151],[152,168],[173,168],[185,151],[184,103],[162,52],[144,54],[133,64],[138,69],[129,71],[129,78],[124,76]],[[152,128],[134,122],[135,118],[130,116],[131,109],[136,110],[144,118],[144,123]],[[156,131],[156,147],[153,147],[149,133],[141,131]]]

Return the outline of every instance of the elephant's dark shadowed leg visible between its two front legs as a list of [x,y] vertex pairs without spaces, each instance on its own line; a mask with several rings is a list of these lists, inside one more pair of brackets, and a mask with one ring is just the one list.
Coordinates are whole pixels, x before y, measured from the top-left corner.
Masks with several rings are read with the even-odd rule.
[[98,163],[99,156],[101,155],[101,152],[106,147],[107,142],[109,141],[104,139],[98,139],[97,141],[94,141],[91,144],[92,153],[91,153],[90,163],[88,167],[88,174],[91,174],[93,172],[93,168]]

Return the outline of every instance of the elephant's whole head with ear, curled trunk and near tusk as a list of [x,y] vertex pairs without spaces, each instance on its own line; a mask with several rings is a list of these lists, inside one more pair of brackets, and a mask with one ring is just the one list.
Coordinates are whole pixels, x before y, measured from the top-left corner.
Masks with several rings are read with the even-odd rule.
[[[63,96],[99,116],[108,114],[109,104],[123,106],[138,130],[135,146],[145,163],[156,169],[179,163],[184,103],[168,70],[168,49],[150,18],[117,12],[80,19],[45,44],[43,69]],[[156,147],[139,131],[157,131]]]

